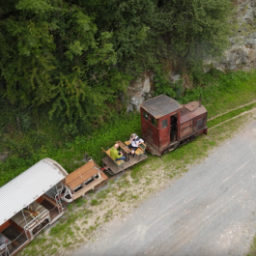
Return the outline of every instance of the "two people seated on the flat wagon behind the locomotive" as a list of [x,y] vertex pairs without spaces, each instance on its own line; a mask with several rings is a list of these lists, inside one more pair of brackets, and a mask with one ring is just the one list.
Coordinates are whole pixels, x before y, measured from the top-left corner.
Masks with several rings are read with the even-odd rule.
[[[143,143],[144,140],[141,139],[136,133],[132,133],[129,138],[129,145],[128,148],[131,150],[131,155],[136,156],[136,150],[139,147],[141,143]],[[115,160],[126,160],[126,156],[124,156],[123,152],[118,151],[119,144],[116,143],[111,149],[110,149],[110,156]]]

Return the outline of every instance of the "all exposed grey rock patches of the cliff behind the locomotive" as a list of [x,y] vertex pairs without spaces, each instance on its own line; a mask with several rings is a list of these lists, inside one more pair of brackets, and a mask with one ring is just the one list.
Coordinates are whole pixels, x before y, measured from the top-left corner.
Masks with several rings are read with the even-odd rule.
[[[230,38],[230,48],[223,57],[216,60],[205,61],[205,72],[215,68],[218,71],[248,71],[256,68],[256,0],[238,0],[238,12],[235,20],[239,20],[236,35]],[[192,82],[183,71],[169,71],[169,79],[184,82],[184,88],[191,89]],[[139,104],[154,97],[154,72],[147,71],[128,86],[128,111],[139,110]]]

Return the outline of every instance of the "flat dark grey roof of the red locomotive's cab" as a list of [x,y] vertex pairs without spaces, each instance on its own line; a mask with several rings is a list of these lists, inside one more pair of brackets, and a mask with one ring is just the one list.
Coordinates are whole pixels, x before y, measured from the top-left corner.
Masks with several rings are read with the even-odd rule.
[[165,95],[160,95],[151,100],[144,101],[140,106],[156,119],[168,115],[177,109],[183,108],[179,102]]

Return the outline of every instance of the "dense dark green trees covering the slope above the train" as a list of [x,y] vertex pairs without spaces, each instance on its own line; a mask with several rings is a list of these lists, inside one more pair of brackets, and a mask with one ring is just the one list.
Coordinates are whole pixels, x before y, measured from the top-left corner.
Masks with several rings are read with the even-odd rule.
[[0,99],[92,131],[124,110],[140,72],[220,55],[230,10],[229,0],[1,1]]

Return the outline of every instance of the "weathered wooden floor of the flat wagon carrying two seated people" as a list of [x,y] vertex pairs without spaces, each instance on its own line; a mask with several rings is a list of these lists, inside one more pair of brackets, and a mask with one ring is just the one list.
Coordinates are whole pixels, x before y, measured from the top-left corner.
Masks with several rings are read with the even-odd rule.
[[123,171],[123,170],[126,170],[126,169],[128,169],[128,167],[130,167],[130,166],[132,166],[132,165],[134,165],[134,164],[136,164],[136,163],[138,163],[138,162],[140,162],[140,161],[142,161],[142,160],[144,160],[144,159],[146,159],[146,158],[148,158],[148,156],[147,155],[142,155],[142,156],[135,156],[135,157],[133,157],[133,156],[130,156],[129,157],[129,161],[125,161],[124,162],[124,164],[123,164],[123,166],[120,166],[120,167],[118,167],[118,166],[116,166],[116,164],[115,163],[113,163],[113,161],[111,160],[111,159],[109,159],[109,157],[104,157],[104,158],[102,158],[102,162],[113,172],[113,173],[119,173],[119,172],[121,172],[121,171]]

